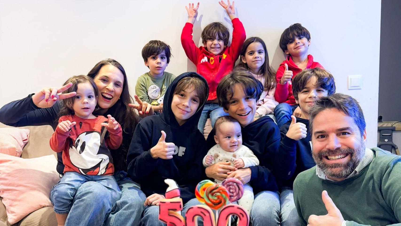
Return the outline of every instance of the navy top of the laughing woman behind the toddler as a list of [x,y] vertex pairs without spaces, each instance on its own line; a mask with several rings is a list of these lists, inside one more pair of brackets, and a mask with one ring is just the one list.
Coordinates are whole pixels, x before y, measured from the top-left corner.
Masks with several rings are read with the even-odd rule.
[[[4,105],[0,108],[0,122],[8,126],[43,126],[50,125],[53,130],[56,129],[59,123],[59,111],[62,105],[61,101],[57,101],[56,104],[50,108],[38,108],[32,101],[32,96],[29,94],[26,98],[16,100]],[[116,106],[116,104],[115,104]],[[103,116],[107,117],[107,114],[113,116],[115,109],[109,108]],[[123,129],[123,143],[115,151],[111,151],[111,157],[115,171],[126,171],[126,158],[128,147],[131,143],[132,131]],[[62,152],[57,153],[57,172],[64,174],[63,158],[61,157]]]

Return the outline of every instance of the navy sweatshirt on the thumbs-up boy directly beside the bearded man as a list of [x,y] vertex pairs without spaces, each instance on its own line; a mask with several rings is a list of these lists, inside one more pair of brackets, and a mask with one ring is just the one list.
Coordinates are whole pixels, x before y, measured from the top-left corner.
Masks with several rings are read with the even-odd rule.
[[[277,183],[283,187],[291,187],[299,173],[314,167],[316,164],[312,158],[312,148],[310,147],[309,120],[296,118],[297,122],[302,122],[308,128],[306,137],[300,140],[293,140],[286,136],[290,128],[291,120],[280,128],[282,140],[279,152],[276,156]],[[281,167],[278,167],[281,165]],[[281,170],[280,170],[281,169]]]

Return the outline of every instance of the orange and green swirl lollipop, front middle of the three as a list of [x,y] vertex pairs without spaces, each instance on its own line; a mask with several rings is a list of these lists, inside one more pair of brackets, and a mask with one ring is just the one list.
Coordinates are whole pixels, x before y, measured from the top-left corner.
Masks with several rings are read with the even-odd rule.
[[223,206],[229,204],[229,196],[227,189],[219,184],[209,186],[203,198],[207,206],[214,210],[219,210]]

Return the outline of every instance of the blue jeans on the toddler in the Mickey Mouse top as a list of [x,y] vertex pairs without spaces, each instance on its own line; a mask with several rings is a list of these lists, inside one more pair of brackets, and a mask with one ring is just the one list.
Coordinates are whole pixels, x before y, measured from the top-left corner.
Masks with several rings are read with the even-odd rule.
[[[50,193],[50,200],[54,205],[54,211],[57,214],[67,214],[71,212],[72,206],[76,205],[74,200],[76,199],[76,195],[78,194],[78,190],[84,183],[94,182],[99,183],[106,189],[103,190],[99,197],[100,200],[108,199],[110,204],[106,204],[106,208],[111,210],[111,206],[117,202],[117,200],[121,197],[121,191],[115,181],[114,177],[111,175],[83,175],[77,172],[67,172],[63,177],[59,180],[59,182],[53,186],[53,189]],[[88,200],[89,201],[89,200]],[[97,203],[98,198],[91,200],[91,202]],[[94,204],[89,203],[88,205]],[[74,205],[73,205],[74,204]],[[101,207],[103,208],[103,207]],[[75,210],[76,211],[76,210]],[[82,209],[81,216],[90,215],[87,214],[87,210]],[[107,213],[108,214],[108,213]],[[103,216],[104,221],[105,216]],[[67,218],[67,221],[69,219]],[[103,223],[103,222],[102,222]],[[66,222],[67,224],[67,222]],[[71,224],[71,222],[70,222]]]

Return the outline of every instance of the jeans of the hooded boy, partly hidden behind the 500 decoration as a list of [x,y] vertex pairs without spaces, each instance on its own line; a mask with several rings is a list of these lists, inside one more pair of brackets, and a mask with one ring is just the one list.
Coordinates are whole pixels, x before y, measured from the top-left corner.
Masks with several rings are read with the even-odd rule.
[[[189,200],[182,207],[181,215],[185,218],[185,214],[191,206],[201,204],[196,198]],[[143,205],[143,204],[142,204]],[[203,226],[203,222],[198,218],[198,226]],[[199,224],[201,223],[201,224]],[[165,226],[163,222],[159,220],[159,206],[146,206],[144,210],[144,216],[142,217],[142,226]]]

